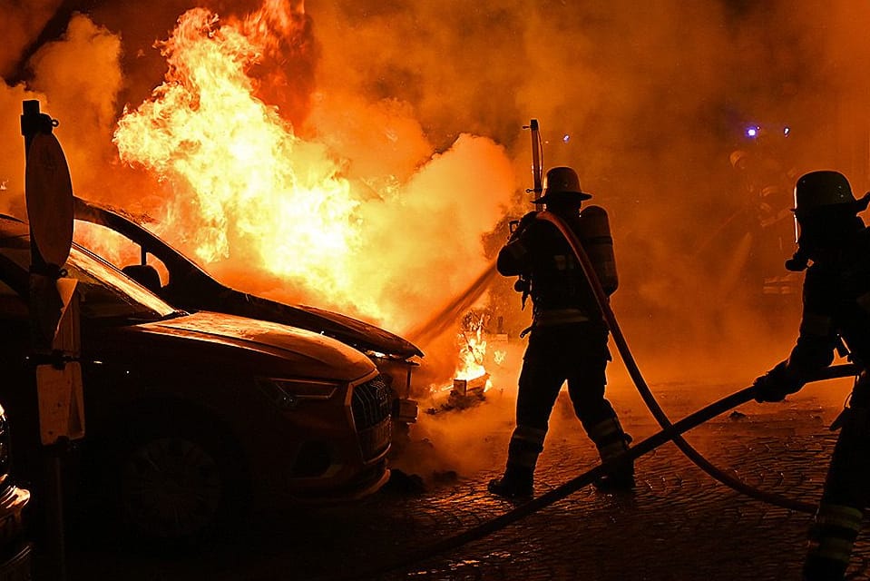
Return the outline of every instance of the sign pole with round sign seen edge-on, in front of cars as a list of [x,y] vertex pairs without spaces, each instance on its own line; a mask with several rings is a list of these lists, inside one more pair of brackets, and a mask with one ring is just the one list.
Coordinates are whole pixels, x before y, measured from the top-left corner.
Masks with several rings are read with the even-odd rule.
[[65,581],[62,460],[70,439],[84,435],[76,281],[64,278],[63,271],[73,242],[73,186],[63,149],[52,133],[57,122],[40,113],[38,101],[24,101],[22,111],[36,384],[36,409],[28,412],[39,419],[49,574]]

